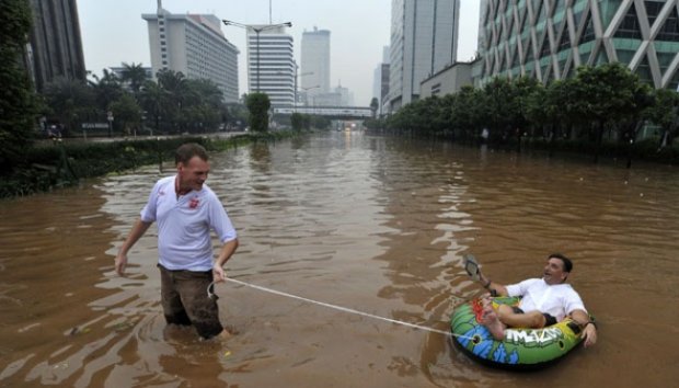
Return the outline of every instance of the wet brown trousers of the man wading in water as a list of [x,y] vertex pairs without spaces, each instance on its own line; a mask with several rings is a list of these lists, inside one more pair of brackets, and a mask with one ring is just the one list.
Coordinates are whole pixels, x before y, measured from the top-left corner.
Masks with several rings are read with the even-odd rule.
[[160,269],[161,304],[165,321],[173,324],[193,324],[204,339],[212,338],[223,330],[219,322],[217,301],[207,295],[212,282],[212,271],[171,271]]

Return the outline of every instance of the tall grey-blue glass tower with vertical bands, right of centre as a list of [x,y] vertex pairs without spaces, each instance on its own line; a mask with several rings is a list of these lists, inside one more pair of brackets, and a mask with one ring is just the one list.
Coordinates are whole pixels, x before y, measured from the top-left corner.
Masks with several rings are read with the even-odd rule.
[[422,80],[457,60],[459,20],[459,0],[392,0],[392,111],[416,100]]

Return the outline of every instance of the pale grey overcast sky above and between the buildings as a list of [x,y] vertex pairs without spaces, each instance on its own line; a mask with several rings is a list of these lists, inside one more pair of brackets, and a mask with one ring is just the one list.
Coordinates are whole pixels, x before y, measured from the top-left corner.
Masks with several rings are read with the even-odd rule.
[[[331,31],[331,87],[342,83],[356,105],[372,98],[372,75],[391,34],[391,0],[163,0],[171,13],[209,13],[242,24],[291,22],[295,59],[300,61],[301,36],[314,26]],[[149,34],[142,13],[154,13],[157,0],[78,0],[80,31],[88,70],[122,62],[151,66]],[[476,49],[479,0],[462,0],[458,60]],[[221,26],[239,55],[239,94],[248,90],[245,30]]]

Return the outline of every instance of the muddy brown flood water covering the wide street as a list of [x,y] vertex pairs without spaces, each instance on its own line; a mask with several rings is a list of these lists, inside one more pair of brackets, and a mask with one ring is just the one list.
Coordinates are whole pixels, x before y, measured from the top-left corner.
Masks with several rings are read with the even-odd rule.
[[[437,332],[237,283],[237,334],[166,327],[151,227],[114,274],[157,166],[0,203],[0,386],[670,387],[679,370],[679,171],[333,133],[211,156],[241,247],[228,276],[437,330],[482,289],[563,252],[599,342],[536,373],[491,369]],[[169,164],[168,164],[169,166]]]

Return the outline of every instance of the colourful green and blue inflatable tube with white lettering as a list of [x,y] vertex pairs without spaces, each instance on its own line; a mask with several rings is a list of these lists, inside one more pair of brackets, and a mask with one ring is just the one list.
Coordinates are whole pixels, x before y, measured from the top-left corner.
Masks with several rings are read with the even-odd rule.
[[[494,305],[514,306],[518,303],[519,298],[493,299]],[[505,339],[496,341],[479,323],[481,312],[479,299],[459,306],[450,317],[450,329],[452,342],[471,358],[486,365],[510,369],[541,368],[561,360],[582,341],[582,330],[571,319],[542,329],[507,329]]]

